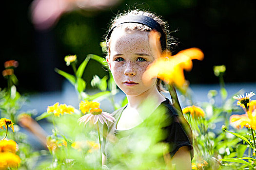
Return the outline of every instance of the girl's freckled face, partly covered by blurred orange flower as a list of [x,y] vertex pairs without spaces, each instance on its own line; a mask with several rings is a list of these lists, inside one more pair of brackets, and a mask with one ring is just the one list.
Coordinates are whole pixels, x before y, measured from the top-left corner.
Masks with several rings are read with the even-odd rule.
[[138,96],[157,88],[157,79],[142,80],[147,67],[156,59],[149,45],[149,32],[114,30],[110,54],[106,58],[118,87],[127,96]]

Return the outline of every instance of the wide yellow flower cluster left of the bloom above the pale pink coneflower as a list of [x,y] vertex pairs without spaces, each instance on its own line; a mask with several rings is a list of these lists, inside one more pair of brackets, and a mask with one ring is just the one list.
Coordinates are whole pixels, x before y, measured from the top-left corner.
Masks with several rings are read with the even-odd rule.
[[58,116],[61,114],[63,115],[64,113],[67,114],[72,114],[74,113],[75,108],[71,105],[66,105],[66,104],[60,104],[59,102],[55,103],[52,106],[47,107],[47,113],[53,113],[55,116]]

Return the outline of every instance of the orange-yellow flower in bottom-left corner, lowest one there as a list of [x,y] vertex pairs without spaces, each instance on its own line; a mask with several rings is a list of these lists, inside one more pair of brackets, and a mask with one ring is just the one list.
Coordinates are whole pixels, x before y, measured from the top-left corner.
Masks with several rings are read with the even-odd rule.
[[17,168],[20,164],[20,157],[14,153],[3,152],[0,153],[0,170],[7,170],[7,168]]

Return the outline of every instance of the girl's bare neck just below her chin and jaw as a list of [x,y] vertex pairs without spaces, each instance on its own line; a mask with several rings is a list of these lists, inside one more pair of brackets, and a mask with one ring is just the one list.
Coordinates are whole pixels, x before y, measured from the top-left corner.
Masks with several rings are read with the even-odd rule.
[[153,107],[158,107],[161,102],[165,101],[164,96],[161,95],[156,86],[155,88],[151,88],[138,96],[127,96],[127,99],[127,107],[136,110],[140,109],[143,102],[148,101],[154,105]]

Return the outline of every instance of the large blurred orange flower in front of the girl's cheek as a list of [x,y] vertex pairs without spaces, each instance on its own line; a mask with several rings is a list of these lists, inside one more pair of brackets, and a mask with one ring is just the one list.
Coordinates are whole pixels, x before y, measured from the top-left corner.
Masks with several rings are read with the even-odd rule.
[[175,84],[182,87],[185,84],[183,69],[190,71],[193,66],[192,59],[202,60],[204,54],[200,49],[191,48],[172,56],[169,51],[161,52],[159,38],[158,32],[150,33],[150,46],[157,59],[144,72],[142,78],[146,81],[155,77],[170,85]]

